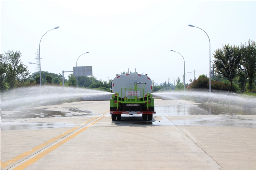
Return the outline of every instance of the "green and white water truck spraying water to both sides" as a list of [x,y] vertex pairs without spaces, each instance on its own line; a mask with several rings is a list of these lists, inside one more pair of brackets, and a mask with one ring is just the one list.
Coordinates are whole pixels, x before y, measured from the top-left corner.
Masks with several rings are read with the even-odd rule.
[[142,115],[143,120],[152,120],[156,114],[152,92],[152,81],[143,74],[117,75],[110,83],[113,91],[110,99],[112,120],[121,120],[122,114]]

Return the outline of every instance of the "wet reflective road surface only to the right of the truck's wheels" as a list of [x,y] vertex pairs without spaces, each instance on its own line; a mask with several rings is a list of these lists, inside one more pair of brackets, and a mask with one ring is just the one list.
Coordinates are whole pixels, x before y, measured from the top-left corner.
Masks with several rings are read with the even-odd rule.
[[[174,125],[211,125],[255,128],[255,110],[242,107],[216,105],[164,105],[155,106],[155,111],[165,115]],[[154,122],[155,123],[155,122]],[[153,124],[154,124],[153,123]],[[159,125],[160,122],[157,124]],[[167,125],[163,119],[162,125]],[[171,124],[170,124],[171,125]]]

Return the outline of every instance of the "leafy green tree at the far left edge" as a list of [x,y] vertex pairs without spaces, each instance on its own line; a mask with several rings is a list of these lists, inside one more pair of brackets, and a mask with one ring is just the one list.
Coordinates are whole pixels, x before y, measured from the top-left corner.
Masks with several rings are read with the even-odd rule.
[[0,54],[2,84],[4,82],[8,83],[10,88],[13,88],[16,82],[27,81],[30,72],[28,71],[28,67],[20,61],[22,53],[19,51],[8,51],[4,53]]

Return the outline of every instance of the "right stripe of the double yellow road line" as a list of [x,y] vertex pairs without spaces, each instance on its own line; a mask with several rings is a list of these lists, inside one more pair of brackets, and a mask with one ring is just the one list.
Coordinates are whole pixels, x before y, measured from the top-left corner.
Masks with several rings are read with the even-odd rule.
[[[106,116],[106,115],[105,115]],[[17,166],[16,168],[14,168],[13,170],[23,170],[25,168],[27,168],[29,165],[33,164],[34,162],[36,162],[37,160],[41,159],[42,157],[44,157],[45,155],[47,155],[48,153],[52,152],[53,150],[57,149],[59,146],[61,146],[62,144],[66,143],[67,141],[69,141],[70,139],[74,138],[75,136],[79,135],[81,132],[85,131],[86,129],[88,129],[90,126],[94,125],[95,123],[97,123],[99,120],[103,119],[105,116],[102,116],[101,118],[99,118],[98,120],[94,121],[93,123],[89,124],[88,126],[85,126],[84,128],[80,129],[79,131],[75,132],[74,134],[70,135],[69,137],[65,138],[64,140],[56,143],[55,145],[53,145],[52,147],[46,149],[45,151],[41,152],[40,154],[34,156],[33,158],[27,160],[25,163]]]

